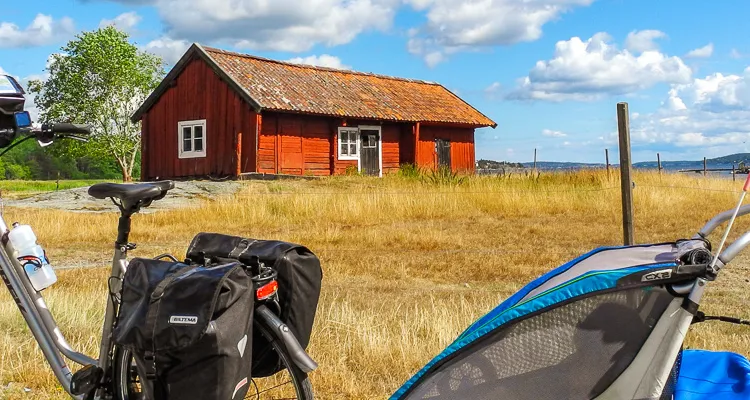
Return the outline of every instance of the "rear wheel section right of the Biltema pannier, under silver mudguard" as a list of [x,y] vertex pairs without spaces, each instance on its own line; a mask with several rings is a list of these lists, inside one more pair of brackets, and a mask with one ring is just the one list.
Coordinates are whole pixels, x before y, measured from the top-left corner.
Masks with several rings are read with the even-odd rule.
[[271,344],[270,349],[253,349],[253,351],[275,351],[281,360],[283,369],[267,378],[253,378],[250,390],[245,399],[250,400],[313,400],[312,385],[307,374],[293,362],[284,343],[272,333],[270,327],[261,320],[256,320],[257,329]]

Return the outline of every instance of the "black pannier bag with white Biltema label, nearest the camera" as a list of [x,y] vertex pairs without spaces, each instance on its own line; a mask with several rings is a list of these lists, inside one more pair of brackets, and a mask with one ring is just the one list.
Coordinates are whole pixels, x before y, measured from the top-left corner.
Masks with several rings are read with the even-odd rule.
[[132,350],[146,399],[245,397],[251,384],[252,288],[236,261],[130,262],[113,339]]

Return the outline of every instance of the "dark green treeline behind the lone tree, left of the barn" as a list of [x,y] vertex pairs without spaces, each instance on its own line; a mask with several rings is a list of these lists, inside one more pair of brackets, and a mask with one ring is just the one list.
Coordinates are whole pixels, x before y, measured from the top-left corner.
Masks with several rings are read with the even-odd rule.
[[[42,148],[30,140],[0,157],[0,179],[118,179],[120,168],[113,159],[70,157],[50,147]],[[140,157],[138,157],[140,160]],[[58,175],[59,174],[59,175]],[[140,162],[134,176],[140,176]]]

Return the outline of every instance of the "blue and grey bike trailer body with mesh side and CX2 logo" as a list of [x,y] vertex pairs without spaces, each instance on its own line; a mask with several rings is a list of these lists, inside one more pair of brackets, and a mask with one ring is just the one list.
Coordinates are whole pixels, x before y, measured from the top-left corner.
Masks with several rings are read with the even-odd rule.
[[672,399],[701,240],[596,249],[480,318],[391,400]]

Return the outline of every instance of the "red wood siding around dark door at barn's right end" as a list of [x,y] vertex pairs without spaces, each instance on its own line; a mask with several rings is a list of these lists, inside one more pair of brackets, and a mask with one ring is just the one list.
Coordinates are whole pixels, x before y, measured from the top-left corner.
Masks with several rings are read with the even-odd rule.
[[435,168],[437,165],[435,139],[451,141],[451,169],[453,171],[474,172],[476,164],[473,128],[422,125],[419,133],[419,160],[417,160],[421,167]]

